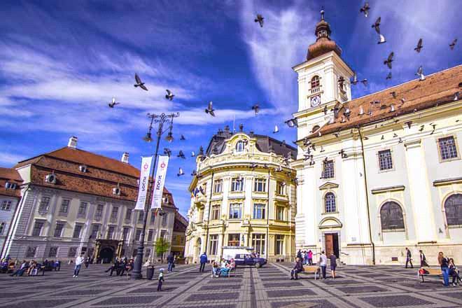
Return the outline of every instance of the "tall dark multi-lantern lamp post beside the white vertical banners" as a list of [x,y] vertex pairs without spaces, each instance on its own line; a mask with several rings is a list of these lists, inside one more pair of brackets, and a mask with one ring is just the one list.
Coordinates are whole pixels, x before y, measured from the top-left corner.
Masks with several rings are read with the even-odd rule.
[[153,165],[153,170],[151,172],[151,179],[149,179],[149,187],[148,187],[149,195],[146,198],[146,202],[144,204],[143,229],[141,230],[141,238],[139,239],[140,244],[138,246],[137,256],[135,257],[135,261],[133,265],[133,272],[132,272],[133,279],[143,278],[143,274],[141,274],[141,266],[143,265],[143,255],[144,255],[144,235],[146,234],[146,224],[148,221],[148,212],[149,212],[149,206],[150,206],[149,200],[151,200],[151,197],[153,195],[154,176],[155,176],[154,172],[155,172],[155,165],[158,161],[160,137],[162,137],[162,134],[164,133],[162,131],[164,124],[169,124],[169,133],[167,134],[166,139],[169,142],[173,140],[173,136],[172,136],[173,120],[174,118],[179,117],[179,116],[180,116],[180,113],[170,113],[170,114],[162,113],[160,115],[148,113],[148,118],[151,118],[151,124],[149,125],[148,133],[146,134],[146,137],[143,138],[143,140],[147,142],[153,141],[151,137],[151,130],[153,129],[153,123],[159,123],[159,126],[158,126],[158,131],[156,132],[157,141],[155,145],[154,165]]

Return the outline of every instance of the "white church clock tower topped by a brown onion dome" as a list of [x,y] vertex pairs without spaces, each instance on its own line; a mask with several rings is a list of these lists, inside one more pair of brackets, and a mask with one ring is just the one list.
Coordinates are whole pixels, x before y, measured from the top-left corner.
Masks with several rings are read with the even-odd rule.
[[[316,25],[316,42],[309,45],[307,60],[293,67],[298,74],[297,139],[307,137],[328,122],[335,104],[351,100],[350,78],[353,71],[342,59],[342,49],[330,38],[330,25],[321,20]],[[344,80],[344,82],[339,82]],[[299,151],[300,152],[300,151]]]

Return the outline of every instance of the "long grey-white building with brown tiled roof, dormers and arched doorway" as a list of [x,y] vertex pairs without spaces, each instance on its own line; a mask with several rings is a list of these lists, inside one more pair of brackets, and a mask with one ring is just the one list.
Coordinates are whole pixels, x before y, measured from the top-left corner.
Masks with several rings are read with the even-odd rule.
[[[1,258],[72,260],[85,252],[95,262],[111,262],[136,255],[144,213],[134,211],[139,169],[128,160],[128,153],[118,161],[83,151],[71,137],[64,148],[19,162],[12,170],[21,180],[21,199],[12,210]],[[172,243],[174,237],[180,214],[167,189],[162,211],[165,215],[148,213],[146,259],[158,258],[156,239]]]

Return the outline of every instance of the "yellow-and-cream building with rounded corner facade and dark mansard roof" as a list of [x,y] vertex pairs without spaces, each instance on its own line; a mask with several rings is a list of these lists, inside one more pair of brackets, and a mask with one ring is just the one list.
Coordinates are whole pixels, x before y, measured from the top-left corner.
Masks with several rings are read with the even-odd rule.
[[269,260],[295,255],[295,148],[271,137],[229,127],[197,156],[186,230],[187,262],[224,246],[247,246]]

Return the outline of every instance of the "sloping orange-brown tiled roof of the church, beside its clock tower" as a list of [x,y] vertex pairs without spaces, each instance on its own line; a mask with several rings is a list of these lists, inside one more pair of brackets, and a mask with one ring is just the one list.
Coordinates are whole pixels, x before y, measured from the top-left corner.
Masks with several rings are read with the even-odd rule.
[[[427,76],[426,80],[412,80],[353,99],[340,106],[339,116],[335,123],[324,125],[318,132],[321,132],[322,136],[453,102],[454,93],[461,91],[459,85],[461,81],[462,65],[458,65]],[[391,92],[395,92],[396,98],[393,98]],[[405,99],[404,103],[401,102],[402,98]],[[372,104],[372,102],[378,103]],[[393,112],[390,112],[391,104],[395,107]],[[363,106],[363,115],[359,115],[360,106]],[[346,118],[346,121],[341,123],[346,107],[350,109],[351,115],[349,119]],[[372,109],[372,116],[367,114],[370,109]],[[309,135],[309,138],[318,137],[318,132]]]

